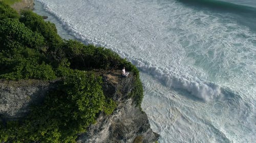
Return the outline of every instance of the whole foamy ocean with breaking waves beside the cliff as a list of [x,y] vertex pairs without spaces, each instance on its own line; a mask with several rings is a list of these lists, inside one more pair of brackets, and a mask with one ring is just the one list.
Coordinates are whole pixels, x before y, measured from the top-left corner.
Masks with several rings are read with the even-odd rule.
[[255,142],[256,1],[36,0],[35,12],[139,68],[159,142]]

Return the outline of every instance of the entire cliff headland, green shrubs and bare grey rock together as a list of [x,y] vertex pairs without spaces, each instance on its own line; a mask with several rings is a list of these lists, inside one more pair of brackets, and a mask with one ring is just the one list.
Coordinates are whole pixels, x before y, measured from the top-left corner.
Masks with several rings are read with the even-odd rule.
[[[0,7],[0,142],[159,138],[141,111],[143,87],[132,63],[110,49],[63,40],[53,23],[10,8],[32,9],[33,1],[17,1]],[[129,77],[121,76],[123,66]]]

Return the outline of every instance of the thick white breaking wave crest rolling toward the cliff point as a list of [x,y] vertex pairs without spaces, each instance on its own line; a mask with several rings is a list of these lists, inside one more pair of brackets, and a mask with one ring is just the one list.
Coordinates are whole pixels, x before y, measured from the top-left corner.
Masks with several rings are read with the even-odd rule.
[[206,102],[220,98],[223,94],[221,87],[212,82],[202,82],[193,80],[193,77],[186,75],[183,77],[179,73],[171,72],[167,69],[162,69],[152,65],[146,65],[140,60],[132,60],[132,63],[141,71],[153,75],[169,88],[185,90],[197,98]]

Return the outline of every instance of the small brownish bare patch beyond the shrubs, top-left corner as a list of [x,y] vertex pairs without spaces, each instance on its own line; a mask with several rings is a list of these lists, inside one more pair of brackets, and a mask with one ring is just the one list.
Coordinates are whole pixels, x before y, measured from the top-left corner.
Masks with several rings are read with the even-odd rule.
[[27,10],[33,10],[34,9],[34,0],[22,0],[20,2],[17,2],[11,6],[18,12],[21,9],[27,9]]

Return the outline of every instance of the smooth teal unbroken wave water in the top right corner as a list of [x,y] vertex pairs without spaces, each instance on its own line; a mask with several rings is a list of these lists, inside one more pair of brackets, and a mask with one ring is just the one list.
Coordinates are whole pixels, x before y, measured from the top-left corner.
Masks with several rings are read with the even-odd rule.
[[[254,32],[256,31],[256,1],[240,1],[240,0],[178,0],[187,7],[194,8],[198,11],[208,11],[219,13],[221,15],[228,14],[229,18],[236,20],[238,23],[246,25]],[[226,17],[223,17],[225,19]]]

